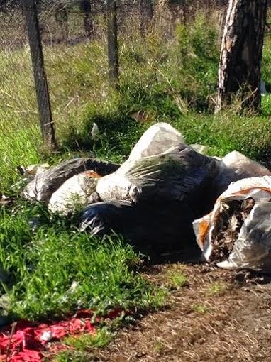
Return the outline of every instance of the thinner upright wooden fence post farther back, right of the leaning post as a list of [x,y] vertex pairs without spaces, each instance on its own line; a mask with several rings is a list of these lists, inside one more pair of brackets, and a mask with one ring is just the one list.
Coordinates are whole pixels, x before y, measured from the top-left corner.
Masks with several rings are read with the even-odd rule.
[[107,0],[107,48],[109,57],[109,81],[118,89],[118,25],[116,0]]

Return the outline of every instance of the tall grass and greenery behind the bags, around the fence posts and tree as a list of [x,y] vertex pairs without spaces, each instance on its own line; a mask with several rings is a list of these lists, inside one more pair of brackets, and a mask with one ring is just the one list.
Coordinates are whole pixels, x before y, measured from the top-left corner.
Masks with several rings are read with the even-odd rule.
[[[138,33],[121,35],[118,93],[107,80],[103,36],[77,45],[45,45],[52,111],[62,149],[67,155],[95,150],[100,157],[121,162],[149,124],[167,121],[187,141],[211,146],[211,154],[238,149],[258,160],[264,158],[270,143],[270,96],[263,99],[260,117],[240,117],[234,109],[221,116],[212,114],[219,62],[217,32],[198,13],[194,22],[177,25],[173,37],[159,31],[144,38]],[[267,89],[271,87],[270,48],[267,37],[262,64]],[[40,152],[29,49],[2,51],[0,63],[1,189],[9,193],[18,179],[16,166],[40,162],[45,155]],[[144,114],[143,125],[133,120],[138,112]],[[93,122],[101,129],[95,142],[90,136]]]

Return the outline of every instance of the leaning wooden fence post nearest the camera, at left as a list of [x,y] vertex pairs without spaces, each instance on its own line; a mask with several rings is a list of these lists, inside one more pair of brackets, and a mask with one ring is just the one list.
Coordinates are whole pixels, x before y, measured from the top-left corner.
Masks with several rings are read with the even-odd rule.
[[40,39],[38,10],[35,0],[23,0],[23,10],[26,16],[28,41],[31,50],[35,92],[38,103],[38,113],[41,132],[43,135],[43,143],[45,148],[53,150],[57,148],[57,141],[55,139],[55,126],[52,121],[48,82],[43,59],[43,46]]

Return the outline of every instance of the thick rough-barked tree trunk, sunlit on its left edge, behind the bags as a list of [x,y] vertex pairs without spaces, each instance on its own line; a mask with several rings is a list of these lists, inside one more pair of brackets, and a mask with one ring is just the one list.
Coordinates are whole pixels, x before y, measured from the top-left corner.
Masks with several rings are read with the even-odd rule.
[[267,0],[230,0],[221,44],[216,111],[240,95],[242,108],[260,109],[260,67]]

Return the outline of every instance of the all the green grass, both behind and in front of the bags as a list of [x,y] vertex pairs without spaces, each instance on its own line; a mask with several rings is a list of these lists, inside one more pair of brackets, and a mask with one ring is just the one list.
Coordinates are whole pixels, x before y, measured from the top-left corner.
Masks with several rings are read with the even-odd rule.
[[[271,155],[271,96],[262,98],[262,114],[238,114],[231,109],[214,115],[219,48],[217,29],[202,14],[192,24],[177,26],[170,38],[161,33],[120,37],[120,90],[109,87],[104,38],[77,45],[45,45],[52,113],[60,150],[43,150],[35,106],[29,49],[1,50],[0,191],[21,190],[18,165],[95,153],[121,163],[146,128],[166,121],[182,131],[187,143],[209,146],[210,155],[238,150],[268,165]],[[271,92],[271,40],[265,39],[262,79]],[[148,122],[139,124],[141,112]],[[92,140],[94,122],[99,137]],[[29,220],[40,220],[33,232]],[[163,290],[136,272],[140,257],[119,236],[101,241],[79,234],[75,219],[48,214],[43,205],[18,202],[0,214],[0,264],[11,285],[2,292],[10,298],[11,318],[43,319],[79,307],[103,312],[113,307],[150,309],[164,302]],[[182,287],[187,275],[174,271],[170,283]],[[74,284],[75,283],[75,284]],[[77,285],[75,289],[72,285]],[[219,285],[210,289],[221,292]],[[206,313],[205,305],[193,310]],[[62,361],[87,361],[85,350],[110,338],[99,332],[67,341],[77,352],[63,352]]]

